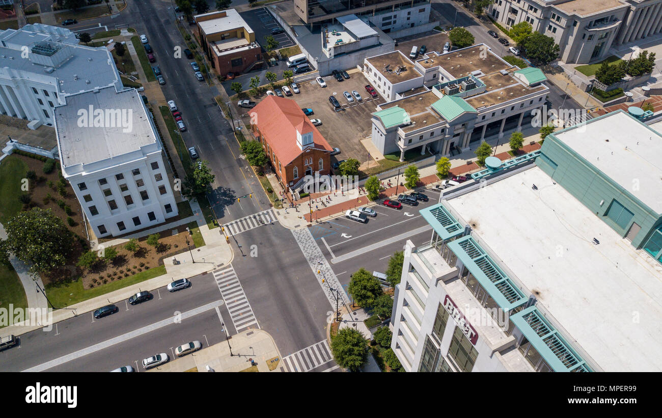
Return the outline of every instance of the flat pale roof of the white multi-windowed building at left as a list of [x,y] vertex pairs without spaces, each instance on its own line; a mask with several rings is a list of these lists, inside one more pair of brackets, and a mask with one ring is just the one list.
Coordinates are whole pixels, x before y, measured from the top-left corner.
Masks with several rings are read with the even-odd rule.
[[[102,126],[96,119],[90,126],[90,109],[103,111]],[[107,87],[68,96],[66,105],[55,108],[55,122],[65,167],[117,157],[156,142],[136,89],[117,93],[115,87]]]

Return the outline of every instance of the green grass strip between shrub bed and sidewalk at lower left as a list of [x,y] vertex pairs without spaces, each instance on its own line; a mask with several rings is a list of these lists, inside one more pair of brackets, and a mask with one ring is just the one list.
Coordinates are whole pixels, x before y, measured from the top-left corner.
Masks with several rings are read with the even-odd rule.
[[128,278],[122,278],[122,280],[118,280],[117,282],[102,284],[88,290],[83,289],[83,281],[78,279],[75,282],[61,284],[60,286],[46,286],[46,294],[53,305],[66,307],[164,274],[166,274],[166,266],[158,266],[134,274]]

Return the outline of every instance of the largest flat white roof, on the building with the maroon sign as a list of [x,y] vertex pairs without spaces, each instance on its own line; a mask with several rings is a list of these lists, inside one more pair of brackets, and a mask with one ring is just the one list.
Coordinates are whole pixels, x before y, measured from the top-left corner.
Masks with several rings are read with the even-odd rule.
[[608,372],[662,370],[662,266],[540,168],[447,203],[574,348]]

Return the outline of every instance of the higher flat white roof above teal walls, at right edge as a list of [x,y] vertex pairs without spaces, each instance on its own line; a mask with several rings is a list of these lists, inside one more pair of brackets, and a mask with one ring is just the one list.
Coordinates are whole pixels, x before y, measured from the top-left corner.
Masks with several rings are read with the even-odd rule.
[[[662,213],[662,135],[618,111],[555,136],[653,211]],[[633,187],[638,180],[639,187]]]

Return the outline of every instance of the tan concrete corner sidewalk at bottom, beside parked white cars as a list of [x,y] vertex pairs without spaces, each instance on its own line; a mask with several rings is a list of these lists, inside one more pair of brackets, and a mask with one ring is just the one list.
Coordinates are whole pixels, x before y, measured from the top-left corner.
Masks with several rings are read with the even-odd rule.
[[[220,327],[220,324],[218,324]],[[205,344],[205,341],[201,341]],[[232,356],[230,356],[230,347]],[[168,353],[172,356],[171,353]],[[256,363],[257,372],[281,372],[283,362],[273,337],[261,329],[248,329],[232,335],[229,340],[219,342],[183,357],[172,358],[163,366],[150,372],[242,372],[251,367],[250,358]],[[274,360],[276,359],[276,360]],[[269,360],[277,362],[274,370],[269,370]],[[273,366],[272,366],[273,367]]]

